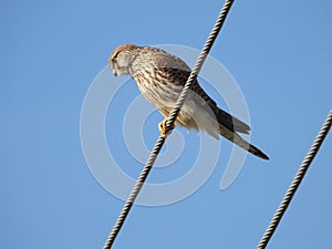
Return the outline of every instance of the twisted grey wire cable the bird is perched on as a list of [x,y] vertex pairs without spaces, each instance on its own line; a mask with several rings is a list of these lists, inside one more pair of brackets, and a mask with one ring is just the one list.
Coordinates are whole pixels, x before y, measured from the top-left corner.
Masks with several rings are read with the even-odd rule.
[[[181,108],[181,106],[184,105],[184,102],[186,100],[186,95],[191,86],[191,84],[194,83],[194,81],[197,79],[197,75],[203,66],[203,63],[205,61],[205,59],[207,58],[209,51],[211,50],[211,46],[216,40],[216,38],[218,37],[219,34],[219,31],[221,30],[222,28],[222,24],[225,22],[225,19],[230,10],[230,7],[232,4],[234,0],[226,0],[226,2],[224,3],[224,7],[218,15],[218,19],[195,63],[195,66],[183,89],[183,92],[181,94],[179,95],[177,102],[176,102],[176,105],[175,107],[173,108],[172,113],[169,114],[169,117],[167,118],[167,123],[166,123],[166,131],[169,132],[172,129],[172,126],[173,124],[175,123],[175,120]],[[149,155],[149,158],[146,163],[146,165],[144,166],[134,188],[132,189],[132,193],[129,195],[129,197],[127,198],[110,236],[107,237],[107,240],[104,245],[104,249],[110,249],[112,247],[112,245],[114,243],[114,240],[116,238],[116,236],[118,235],[127,215],[129,214],[129,210],[133,206],[133,204],[135,203],[135,199],[144,184],[144,181],[146,180],[147,176],[148,176],[148,173],[151,172],[165,141],[166,141],[166,137],[167,137],[167,133],[166,135],[160,135],[159,138],[157,139],[151,155]]]

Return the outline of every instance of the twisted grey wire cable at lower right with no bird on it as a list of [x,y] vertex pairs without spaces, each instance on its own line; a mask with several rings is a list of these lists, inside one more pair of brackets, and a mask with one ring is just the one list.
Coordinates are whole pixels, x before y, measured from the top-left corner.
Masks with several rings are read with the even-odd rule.
[[263,249],[267,247],[269,240],[271,239],[272,235],[274,234],[284,211],[287,210],[290,201],[292,200],[297,189],[299,188],[311,162],[313,160],[314,156],[317,155],[318,151],[320,149],[324,138],[326,137],[329,129],[331,128],[332,123],[332,110],[319,132],[318,136],[315,137],[309,153],[307,154],[305,158],[303,159],[301,166],[299,167],[295,177],[293,178],[291,185],[289,186],[281,204],[279,205],[268,229],[266,230],[264,235],[262,236],[257,249]]

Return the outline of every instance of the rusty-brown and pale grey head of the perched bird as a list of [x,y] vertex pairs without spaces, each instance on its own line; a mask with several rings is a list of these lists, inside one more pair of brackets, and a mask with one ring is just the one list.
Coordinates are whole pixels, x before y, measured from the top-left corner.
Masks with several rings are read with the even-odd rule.
[[116,48],[110,59],[108,65],[115,76],[129,74],[131,65],[138,54],[139,46],[133,44],[123,44]]

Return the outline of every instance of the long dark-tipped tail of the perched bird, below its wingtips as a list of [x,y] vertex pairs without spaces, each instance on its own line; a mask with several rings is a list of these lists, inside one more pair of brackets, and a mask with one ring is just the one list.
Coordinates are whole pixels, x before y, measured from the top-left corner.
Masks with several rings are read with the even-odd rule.
[[220,135],[222,135],[225,138],[229,139],[230,142],[235,143],[239,147],[250,152],[255,156],[258,156],[262,159],[269,159],[269,157],[260,151],[258,147],[255,145],[248,143],[245,141],[242,137],[240,137],[236,132],[232,132],[225,127],[224,125],[219,124],[219,129],[220,129]]

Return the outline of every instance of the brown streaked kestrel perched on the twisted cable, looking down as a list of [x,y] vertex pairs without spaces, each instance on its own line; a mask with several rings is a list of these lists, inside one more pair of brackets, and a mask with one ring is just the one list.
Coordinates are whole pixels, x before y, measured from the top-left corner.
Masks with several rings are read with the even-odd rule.
[[[141,93],[165,117],[158,128],[162,135],[166,135],[167,117],[190,75],[190,68],[178,56],[162,49],[135,44],[116,48],[108,58],[108,66],[115,76],[131,75],[134,79]],[[221,135],[255,156],[269,159],[262,151],[240,136],[249,134],[249,125],[219,108],[197,79],[188,91],[175,125],[205,131],[216,139]]]

